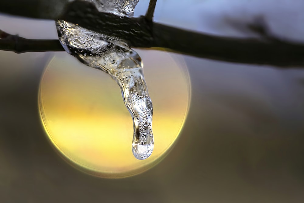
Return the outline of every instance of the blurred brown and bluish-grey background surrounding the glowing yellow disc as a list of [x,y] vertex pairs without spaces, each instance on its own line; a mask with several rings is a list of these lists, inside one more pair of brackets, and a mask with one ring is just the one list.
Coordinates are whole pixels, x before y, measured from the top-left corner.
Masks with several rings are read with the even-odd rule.
[[[243,1],[230,2],[229,9],[221,10],[227,1],[159,0],[155,20],[213,34],[253,35],[220,26],[228,17],[245,19],[240,14],[229,16],[238,13],[233,9],[242,10]],[[275,33],[288,35],[282,21],[274,17],[288,1],[277,5],[267,2],[269,7],[256,3],[246,8],[253,9],[252,15],[269,11],[266,21]],[[147,4],[140,2],[135,15],[144,14]],[[299,10],[299,5],[288,5],[293,13]],[[178,8],[183,8],[182,15]],[[250,12],[246,15],[250,20]],[[288,15],[282,16],[286,19]],[[211,27],[202,23],[206,19]],[[303,22],[301,19],[301,15],[290,15],[289,22]],[[303,24],[296,23],[288,28],[294,29],[292,33],[304,30]],[[57,37],[52,21],[0,16],[0,29],[31,39]],[[301,40],[299,34],[288,36]],[[179,139],[152,169],[124,179],[103,179],[72,167],[48,141],[37,98],[51,56],[0,51],[1,202],[303,201],[304,70],[176,55],[177,63],[184,60],[188,67],[192,88]]]

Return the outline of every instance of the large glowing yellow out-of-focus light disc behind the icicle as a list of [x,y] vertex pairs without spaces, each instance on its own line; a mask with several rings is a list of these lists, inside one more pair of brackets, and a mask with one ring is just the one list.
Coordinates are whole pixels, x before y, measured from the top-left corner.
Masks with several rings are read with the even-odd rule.
[[153,103],[154,151],[138,160],[131,150],[133,122],[119,86],[67,53],[56,53],[40,82],[39,110],[56,150],[87,173],[120,178],[142,173],[169,152],[190,103],[185,63],[163,51],[136,50]]

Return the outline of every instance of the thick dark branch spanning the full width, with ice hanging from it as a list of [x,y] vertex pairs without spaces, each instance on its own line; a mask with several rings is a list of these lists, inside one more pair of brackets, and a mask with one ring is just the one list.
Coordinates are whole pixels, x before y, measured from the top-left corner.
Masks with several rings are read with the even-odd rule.
[[[121,18],[112,14],[98,12],[91,3],[79,0],[72,3],[60,0],[61,8],[57,12],[41,12],[39,9],[46,8],[46,11],[55,9],[56,6],[52,2],[59,0],[48,1],[28,0],[24,2],[22,0],[10,0],[5,3],[5,6],[1,5],[0,12],[33,18],[63,19],[89,30],[118,37],[126,41],[131,47],[162,47],[168,49],[168,51],[219,61],[279,67],[304,67],[304,44],[280,40],[235,39],[210,36],[153,23],[147,20],[145,16]],[[24,9],[28,4],[32,6],[29,11]],[[20,5],[23,6],[20,7]],[[64,9],[62,6],[64,6]]]

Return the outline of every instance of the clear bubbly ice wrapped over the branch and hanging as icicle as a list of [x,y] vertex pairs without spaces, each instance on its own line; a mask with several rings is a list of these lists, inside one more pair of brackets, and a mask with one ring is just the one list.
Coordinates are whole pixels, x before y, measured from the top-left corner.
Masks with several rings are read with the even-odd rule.
[[[100,12],[132,17],[139,0],[87,1],[94,3]],[[133,155],[137,159],[147,159],[154,147],[153,106],[140,56],[117,38],[63,20],[58,20],[56,26],[60,42],[69,54],[89,67],[107,72],[120,86],[123,101],[133,118]]]

